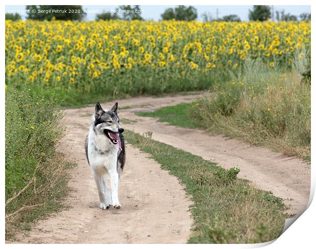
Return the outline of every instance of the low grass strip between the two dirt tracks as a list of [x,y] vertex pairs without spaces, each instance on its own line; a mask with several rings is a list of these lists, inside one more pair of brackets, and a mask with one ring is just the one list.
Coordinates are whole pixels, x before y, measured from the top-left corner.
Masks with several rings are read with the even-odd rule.
[[239,169],[224,170],[199,156],[131,132],[128,143],[147,152],[185,185],[194,205],[195,228],[189,243],[259,243],[277,238],[285,215],[280,198],[236,178]]

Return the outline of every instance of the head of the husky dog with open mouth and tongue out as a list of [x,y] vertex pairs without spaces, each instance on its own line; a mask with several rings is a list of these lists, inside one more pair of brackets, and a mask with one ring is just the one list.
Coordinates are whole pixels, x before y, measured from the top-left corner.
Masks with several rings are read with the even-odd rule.
[[120,142],[118,133],[124,131],[117,116],[117,106],[116,102],[111,110],[103,110],[100,103],[97,102],[94,114],[94,130],[98,134],[106,135],[113,144]]

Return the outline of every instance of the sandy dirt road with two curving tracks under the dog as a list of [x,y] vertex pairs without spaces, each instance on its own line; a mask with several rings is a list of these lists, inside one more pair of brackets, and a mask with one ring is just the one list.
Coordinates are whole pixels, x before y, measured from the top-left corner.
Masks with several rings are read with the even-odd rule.
[[[289,213],[302,212],[309,198],[310,165],[296,158],[251,147],[205,131],[184,129],[139,117],[148,111],[181,102],[198,95],[119,100],[118,114],[123,127],[139,133],[152,131],[152,138],[218,162],[224,168],[239,167],[239,177],[257,187],[270,190],[290,206]],[[103,103],[112,107],[115,101]],[[120,109],[120,107],[123,107]],[[127,145],[127,163],[121,178],[119,197],[122,208],[98,208],[96,186],[85,158],[84,140],[94,106],[67,109],[64,125],[67,134],[63,151],[71,148],[77,163],[69,186],[73,189],[65,201],[70,205],[57,215],[39,222],[22,243],[186,243],[193,224],[188,211],[191,201],[178,180],[160,169],[145,153]],[[293,200],[292,200],[293,199]]]

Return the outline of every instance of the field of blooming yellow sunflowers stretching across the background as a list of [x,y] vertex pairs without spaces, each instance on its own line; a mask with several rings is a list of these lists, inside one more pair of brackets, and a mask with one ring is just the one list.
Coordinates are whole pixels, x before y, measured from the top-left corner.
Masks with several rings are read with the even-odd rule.
[[[6,21],[6,88],[123,95],[202,90],[246,58],[310,50],[310,22]],[[229,69],[229,70],[227,70]]]

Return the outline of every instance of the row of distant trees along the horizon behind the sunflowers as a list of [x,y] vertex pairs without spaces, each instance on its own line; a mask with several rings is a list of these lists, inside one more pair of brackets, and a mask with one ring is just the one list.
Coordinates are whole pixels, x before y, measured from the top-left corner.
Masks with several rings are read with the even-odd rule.
[[[82,20],[86,16],[86,12],[81,5],[27,5],[29,10],[26,18],[32,20]],[[63,10],[70,10],[64,13]],[[36,10],[36,11],[32,11]],[[54,12],[52,11],[54,10]],[[35,13],[33,13],[35,12]],[[252,10],[249,10],[249,20],[266,21],[274,17],[274,11],[267,5],[254,5]],[[198,17],[197,9],[193,6],[179,5],[175,8],[168,8],[161,14],[162,20],[179,20],[179,21],[193,21]],[[282,11],[275,11],[277,21],[310,21],[310,13],[302,13],[300,16],[292,15]],[[21,16],[18,13],[6,13],[6,19],[19,20]],[[116,9],[114,13],[110,11],[96,15],[96,20],[143,20],[141,16],[141,9],[139,5],[122,5]],[[235,14],[226,15],[221,18],[214,18],[209,12],[202,14],[203,21],[241,21],[240,17]]]

